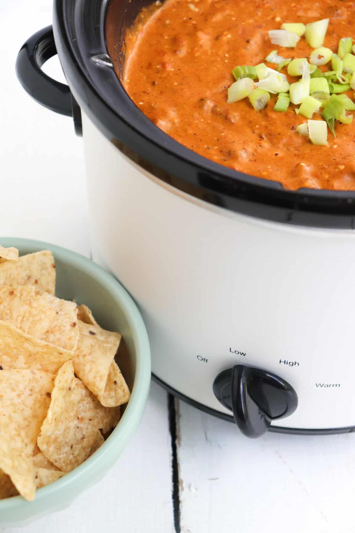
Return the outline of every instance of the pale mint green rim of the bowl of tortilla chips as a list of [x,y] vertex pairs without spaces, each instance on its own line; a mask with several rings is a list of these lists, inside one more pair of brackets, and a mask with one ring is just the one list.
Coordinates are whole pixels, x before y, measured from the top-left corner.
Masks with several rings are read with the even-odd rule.
[[[124,439],[125,443],[127,444],[131,437],[133,437],[133,434],[135,433],[137,426],[141,421],[143,411],[146,405],[146,400],[148,397],[148,392],[150,389],[150,345],[141,313],[139,312],[135,302],[133,301],[133,298],[129,295],[129,293],[121,285],[121,283],[117,279],[115,279],[109,272],[104,270],[100,265],[94,263],[92,260],[88,259],[88,257],[85,257],[84,255],[81,255],[77,252],[73,252],[61,246],[47,243],[45,241],[24,238],[0,237],[0,242],[2,246],[5,247],[14,246],[16,248],[19,248],[20,255],[21,248],[23,247],[31,249],[33,248],[34,252],[48,249],[53,252],[54,256],[60,256],[61,260],[64,263],[75,263],[76,266],[79,266],[79,268],[82,268],[87,273],[91,274],[93,277],[99,278],[100,282],[103,282],[105,288],[110,290],[111,294],[114,295],[115,299],[118,299],[120,304],[123,302],[124,312],[128,324],[131,328],[133,341],[136,348],[136,354],[140,355],[140,357],[137,357],[134,384],[125,412],[123,413],[119,424],[115,427],[110,437],[102,444],[102,446],[95,452],[95,454],[86,459],[84,463],[77,466],[76,469],[65,474],[59,480],[56,480],[55,482],[47,485],[46,487],[37,489],[35,499],[31,502],[28,502],[22,496],[13,496],[11,498],[5,498],[0,500],[0,513],[11,510],[15,511],[20,506],[30,506],[30,508],[34,508],[33,514],[37,514],[39,508],[42,508],[42,504],[45,503],[48,498],[52,497],[55,493],[58,494],[59,492],[65,492],[72,482],[76,482],[79,480],[87,481],[87,487],[89,487],[90,479],[92,479],[90,473],[93,472],[93,470],[96,470],[99,464],[101,467],[103,463],[111,464],[118,459],[120,455],[119,453],[117,454],[117,457],[114,459],[113,462],[108,459],[109,456],[111,457],[112,454],[114,454],[114,448],[117,445],[117,440]],[[134,419],[135,423],[132,424],[132,421]],[[78,494],[79,492],[81,492],[81,490],[78,491]],[[35,507],[37,507],[37,509],[34,507],[34,504],[36,504]]]

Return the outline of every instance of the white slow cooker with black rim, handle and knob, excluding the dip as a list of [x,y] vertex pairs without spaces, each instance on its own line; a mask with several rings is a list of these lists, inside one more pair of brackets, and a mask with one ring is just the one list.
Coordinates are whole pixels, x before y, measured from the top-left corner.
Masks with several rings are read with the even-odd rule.
[[[55,0],[16,62],[83,136],[93,259],[145,320],[153,377],[265,431],[355,430],[355,195],[286,190],[172,140],[121,85],[125,31],[147,0]],[[68,86],[40,69],[58,53]]]

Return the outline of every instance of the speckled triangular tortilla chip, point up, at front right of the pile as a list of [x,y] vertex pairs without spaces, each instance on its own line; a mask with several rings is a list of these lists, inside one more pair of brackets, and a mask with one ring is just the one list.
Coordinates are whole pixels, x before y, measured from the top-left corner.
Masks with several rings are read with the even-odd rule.
[[67,361],[55,378],[51,405],[37,444],[49,461],[70,472],[87,459],[97,430],[109,431],[119,421],[118,408],[105,408],[74,375]]

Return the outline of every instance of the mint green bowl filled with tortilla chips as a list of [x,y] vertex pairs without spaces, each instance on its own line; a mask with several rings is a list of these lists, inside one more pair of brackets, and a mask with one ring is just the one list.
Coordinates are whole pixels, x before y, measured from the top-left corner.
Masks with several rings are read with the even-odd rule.
[[0,238],[0,525],[67,507],[101,480],[143,416],[150,348],[108,272]]

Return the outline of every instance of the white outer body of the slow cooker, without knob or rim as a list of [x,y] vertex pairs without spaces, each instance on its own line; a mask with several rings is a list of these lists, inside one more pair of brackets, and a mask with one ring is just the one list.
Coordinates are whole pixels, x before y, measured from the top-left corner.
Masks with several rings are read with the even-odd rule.
[[275,425],[355,426],[355,233],[268,222],[148,174],[83,114],[93,259],[135,298],[152,372],[224,414],[214,378],[269,370],[299,406]]

